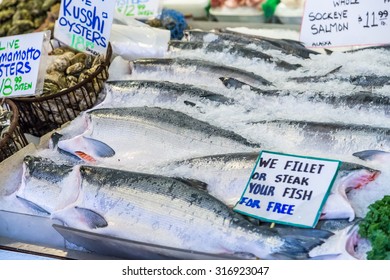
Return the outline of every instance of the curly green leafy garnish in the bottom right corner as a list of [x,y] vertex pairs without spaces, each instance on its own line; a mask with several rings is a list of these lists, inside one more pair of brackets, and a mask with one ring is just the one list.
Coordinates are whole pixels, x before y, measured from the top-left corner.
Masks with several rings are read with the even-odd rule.
[[384,196],[368,209],[359,226],[360,236],[367,238],[372,247],[367,259],[390,260],[390,196]]

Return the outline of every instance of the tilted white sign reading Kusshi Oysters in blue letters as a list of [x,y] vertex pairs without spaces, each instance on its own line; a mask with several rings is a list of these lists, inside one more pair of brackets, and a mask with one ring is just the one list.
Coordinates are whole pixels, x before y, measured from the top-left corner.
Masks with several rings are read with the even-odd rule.
[[54,37],[92,55],[106,54],[115,1],[62,0]]

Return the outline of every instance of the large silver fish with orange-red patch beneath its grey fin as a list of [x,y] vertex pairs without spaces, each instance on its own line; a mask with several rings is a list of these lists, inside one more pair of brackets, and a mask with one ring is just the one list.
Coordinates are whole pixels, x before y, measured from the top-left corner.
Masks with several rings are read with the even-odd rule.
[[88,162],[130,168],[209,153],[260,148],[259,144],[234,132],[171,109],[95,109],[86,112],[85,119],[85,132],[60,139],[58,148]]

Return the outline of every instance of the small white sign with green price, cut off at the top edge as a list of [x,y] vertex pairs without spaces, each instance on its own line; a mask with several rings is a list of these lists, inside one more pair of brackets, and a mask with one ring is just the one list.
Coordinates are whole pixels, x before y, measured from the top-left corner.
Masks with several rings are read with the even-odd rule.
[[159,0],[118,0],[116,12],[126,17],[140,19],[157,17],[160,11]]

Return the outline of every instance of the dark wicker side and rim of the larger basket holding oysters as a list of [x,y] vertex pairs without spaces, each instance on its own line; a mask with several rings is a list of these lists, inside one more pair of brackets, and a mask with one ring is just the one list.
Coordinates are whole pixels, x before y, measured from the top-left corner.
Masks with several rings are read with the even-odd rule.
[[108,79],[111,55],[109,44],[105,62],[87,79],[73,87],[48,96],[12,99],[19,109],[22,132],[40,137],[73,120],[102,100],[104,96],[101,93]]

